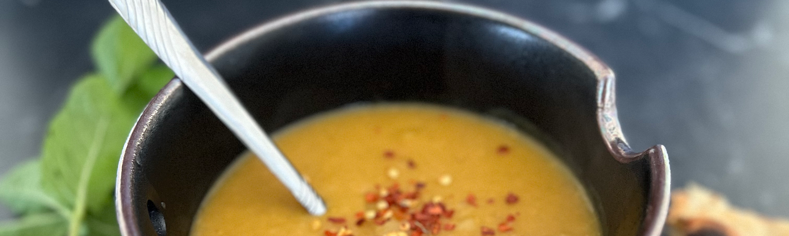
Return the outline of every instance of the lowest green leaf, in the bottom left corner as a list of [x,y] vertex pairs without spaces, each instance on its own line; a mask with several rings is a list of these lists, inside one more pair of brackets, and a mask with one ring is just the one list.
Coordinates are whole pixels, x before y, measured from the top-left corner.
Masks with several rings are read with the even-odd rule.
[[55,213],[36,213],[0,223],[0,236],[63,236],[68,222]]

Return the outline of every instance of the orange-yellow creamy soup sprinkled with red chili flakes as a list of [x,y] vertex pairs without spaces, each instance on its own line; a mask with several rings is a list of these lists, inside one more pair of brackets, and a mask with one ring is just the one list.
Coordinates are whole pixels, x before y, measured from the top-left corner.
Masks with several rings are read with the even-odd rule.
[[326,201],[310,216],[252,154],[215,183],[192,236],[600,235],[589,198],[533,138],[433,105],[357,105],[274,140]]

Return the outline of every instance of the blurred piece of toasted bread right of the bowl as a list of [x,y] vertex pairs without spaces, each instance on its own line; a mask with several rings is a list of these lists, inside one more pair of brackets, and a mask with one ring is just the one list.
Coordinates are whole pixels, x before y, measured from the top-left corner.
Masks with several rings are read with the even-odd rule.
[[671,194],[666,223],[672,236],[789,236],[789,220],[734,208],[697,184]]

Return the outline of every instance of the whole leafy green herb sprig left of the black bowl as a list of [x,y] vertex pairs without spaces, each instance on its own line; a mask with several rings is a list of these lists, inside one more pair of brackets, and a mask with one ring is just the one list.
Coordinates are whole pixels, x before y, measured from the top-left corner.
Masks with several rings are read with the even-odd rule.
[[144,106],[173,77],[120,17],[92,45],[98,72],[79,79],[50,121],[41,158],[0,180],[0,201],[19,216],[0,236],[120,235],[113,204],[118,158]]

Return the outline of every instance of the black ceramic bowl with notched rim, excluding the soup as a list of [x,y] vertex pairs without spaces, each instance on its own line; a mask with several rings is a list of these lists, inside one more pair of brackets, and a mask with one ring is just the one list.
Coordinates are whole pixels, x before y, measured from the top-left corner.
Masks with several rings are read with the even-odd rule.
[[[614,74],[548,29],[442,2],[357,2],[252,28],[208,53],[267,130],[360,101],[421,101],[508,120],[552,147],[593,198],[604,235],[659,235],[663,146],[627,146]],[[208,189],[245,150],[178,79],[151,101],[118,171],[125,236],[189,235]]]

